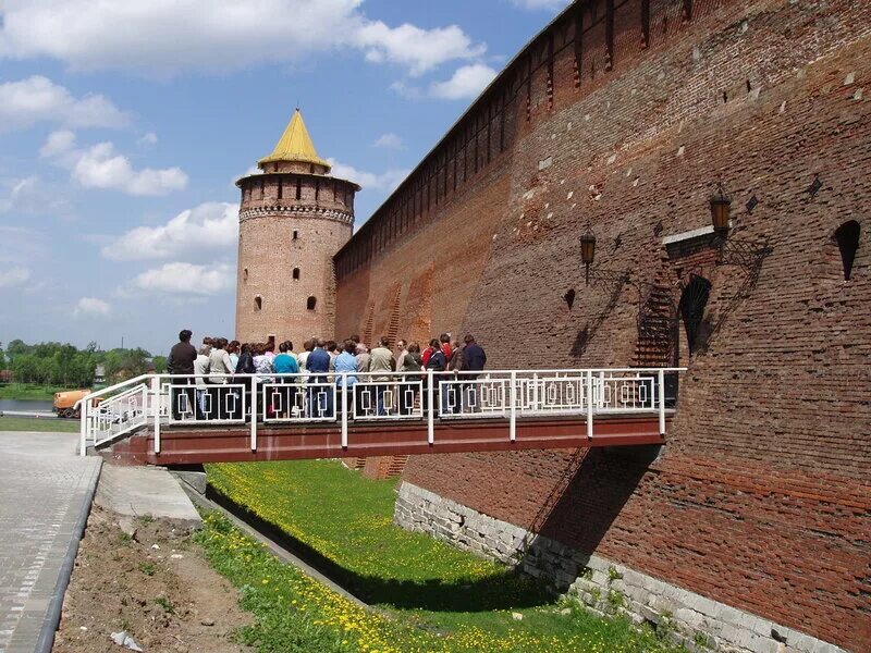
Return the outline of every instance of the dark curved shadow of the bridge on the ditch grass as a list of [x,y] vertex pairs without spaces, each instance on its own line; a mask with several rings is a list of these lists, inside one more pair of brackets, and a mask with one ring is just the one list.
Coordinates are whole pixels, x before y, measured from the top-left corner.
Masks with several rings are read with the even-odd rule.
[[478,580],[453,582],[437,578],[417,582],[364,576],[338,565],[211,485],[207,488],[206,496],[365,603],[430,612],[484,612],[533,607],[553,601],[553,595],[543,583],[520,577],[512,569]]

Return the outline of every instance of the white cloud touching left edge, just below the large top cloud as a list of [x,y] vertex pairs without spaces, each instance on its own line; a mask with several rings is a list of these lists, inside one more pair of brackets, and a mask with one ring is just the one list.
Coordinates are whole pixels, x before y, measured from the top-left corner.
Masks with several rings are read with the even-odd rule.
[[0,132],[38,122],[57,122],[71,127],[122,127],[127,120],[106,97],[74,98],[66,88],[40,75],[0,84]]

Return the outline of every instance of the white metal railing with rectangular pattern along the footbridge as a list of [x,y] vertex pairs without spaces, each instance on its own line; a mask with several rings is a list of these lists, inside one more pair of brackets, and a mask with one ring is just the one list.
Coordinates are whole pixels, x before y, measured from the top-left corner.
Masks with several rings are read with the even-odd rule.
[[[145,374],[81,399],[81,452],[150,424],[161,430],[247,424],[252,449],[259,426],[338,423],[347,446],[353,423],[417,420],[434,442],[437,420],[503,419],[516,439],[528,417],[651,414],[665,433],[666,381],[685,368],[492,370],[271,374]],[[221,383],[214,383],[221,381]],[[676,383],[673,384],[676,387]]]

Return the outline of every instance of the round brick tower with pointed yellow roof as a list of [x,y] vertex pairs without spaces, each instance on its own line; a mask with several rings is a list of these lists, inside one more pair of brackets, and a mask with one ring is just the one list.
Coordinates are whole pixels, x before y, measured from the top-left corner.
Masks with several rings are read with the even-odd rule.
[[262,171],[242,177],[236,279],[236,337],[331,337],[333,255],[354,229],[357,184],[329,175],[297,109]]

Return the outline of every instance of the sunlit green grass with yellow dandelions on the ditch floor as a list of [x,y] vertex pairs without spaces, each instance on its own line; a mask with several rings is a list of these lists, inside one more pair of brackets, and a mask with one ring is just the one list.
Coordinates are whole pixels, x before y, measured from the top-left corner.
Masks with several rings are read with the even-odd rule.
[[371,481],[327,460],[210,465],[208,476],[220,493],[312,550],[344,587],[392,616],[389,626],[378,615],[355,617],[387,629],[383,641],[398,646],[369,650],[675,650],[627,621],[556,603],[502,565],[394,526],[397,480]]

